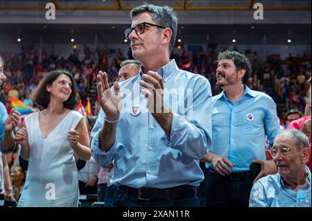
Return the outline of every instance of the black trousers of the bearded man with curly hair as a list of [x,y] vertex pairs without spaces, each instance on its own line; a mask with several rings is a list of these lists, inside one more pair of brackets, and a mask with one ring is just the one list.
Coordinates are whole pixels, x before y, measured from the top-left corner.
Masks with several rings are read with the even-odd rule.
[[223,177],[210,167],[206,188],[207,207],[248,207],[252,178],[249,171]]

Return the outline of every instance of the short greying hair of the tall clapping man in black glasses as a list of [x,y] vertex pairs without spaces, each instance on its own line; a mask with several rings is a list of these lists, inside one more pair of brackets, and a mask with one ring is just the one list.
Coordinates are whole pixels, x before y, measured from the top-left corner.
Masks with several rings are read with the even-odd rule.
[[153,14],[152,20],[159,26],[165,26],[172,30],[172,37],[169,44],[169,54],[175,45],[175,37],[177,37],[177,14],[173,12],[173,8],[168,6],[155,6],[152,4],[144,4],[133,8],[130,12],[130,17],[136,17],[143,12],[150,12]]

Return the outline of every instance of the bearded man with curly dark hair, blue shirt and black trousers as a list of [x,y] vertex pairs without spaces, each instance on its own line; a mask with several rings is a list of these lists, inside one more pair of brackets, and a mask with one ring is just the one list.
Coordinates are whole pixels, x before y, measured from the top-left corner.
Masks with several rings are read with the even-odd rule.
[[[245,85],[251,73],[245,55],[219,53],[216,85],[223,91],[212,98],[212,144],[202,159],[208,162],[207,206],[248,207],[252,182],[277,172],[275,163],[266,161],[265,150],[266,137],[272,146],[281,128],[276,105],[267,94]],[[261,163],[258,175],[252,161]]]

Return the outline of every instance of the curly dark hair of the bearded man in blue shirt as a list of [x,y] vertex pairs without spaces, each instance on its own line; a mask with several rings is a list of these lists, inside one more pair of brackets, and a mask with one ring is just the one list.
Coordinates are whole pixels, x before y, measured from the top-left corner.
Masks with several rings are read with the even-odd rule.
[[245,75],[243,76],[243,84],[245,85],[248,82],[250,76],[252,75],[252,65],[250,64],[248,58],[246,58],[245,55],[237,51],[223,51],[220,52],[218,55],[218,62],[220,62],[223,59],[232,60],[236,67],[236,71],[242,69],[246,71]]

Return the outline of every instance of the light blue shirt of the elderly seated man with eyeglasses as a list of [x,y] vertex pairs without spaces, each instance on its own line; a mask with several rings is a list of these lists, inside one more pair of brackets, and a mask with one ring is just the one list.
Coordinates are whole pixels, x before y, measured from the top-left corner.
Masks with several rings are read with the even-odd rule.
[[[297,193],[286,186],[281,175],[262,177],[252,186],[250,192],[250,207],[301,207],[300,196],[305,195],[311,206],[311,172],[306,166],[306,186],[298,189]],[[310,207],[311,208],[311,207]]]

